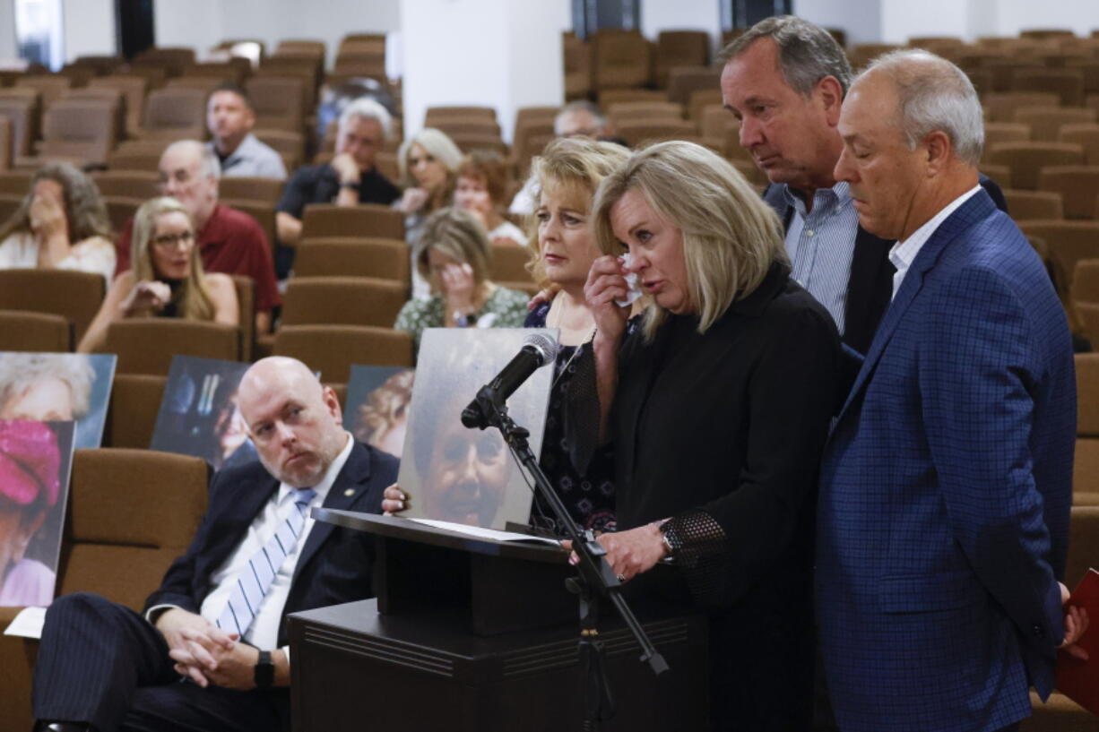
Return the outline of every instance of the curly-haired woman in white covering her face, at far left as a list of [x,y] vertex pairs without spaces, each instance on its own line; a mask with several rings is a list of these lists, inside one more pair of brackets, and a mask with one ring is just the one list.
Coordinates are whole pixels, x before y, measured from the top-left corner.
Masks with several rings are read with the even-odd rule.
[[111,222],[96,184],[68,163],[47,163],[0,225],[0,269],[79,269],[114,275]]

